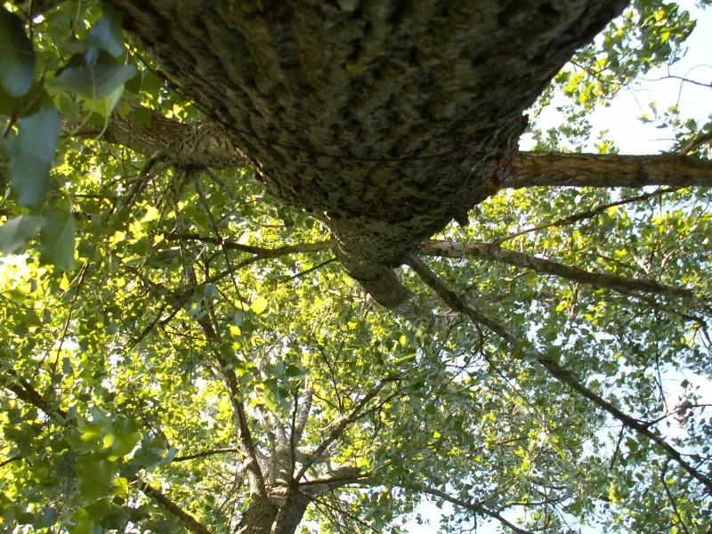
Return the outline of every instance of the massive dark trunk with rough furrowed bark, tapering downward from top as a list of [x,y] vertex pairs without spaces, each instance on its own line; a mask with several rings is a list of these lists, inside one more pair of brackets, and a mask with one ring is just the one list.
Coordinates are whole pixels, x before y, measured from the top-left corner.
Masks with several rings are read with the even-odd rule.
[[[113,0],[273,194],[322,214],[378,302],[389,270],[493,194],[530,106],[622,0]],[[397,281],[397,280],[396,280]]]

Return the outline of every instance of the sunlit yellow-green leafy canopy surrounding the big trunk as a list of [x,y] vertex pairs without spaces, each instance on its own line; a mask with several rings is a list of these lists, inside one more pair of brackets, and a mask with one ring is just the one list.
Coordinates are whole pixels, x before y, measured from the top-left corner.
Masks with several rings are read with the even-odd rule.
[[[399,315],[253,169],[150,150],[205,117],[110,4],[5,7],[4,529],[232,532],[297,488],[303,531],[398,532],[424,497],[448,532],[708,531],[707,188],[502,189],[410,258]],[[694,26],[635,2],[543,93],[536,149],[583,150]],[[708,162],[712,123],[648,120]]]

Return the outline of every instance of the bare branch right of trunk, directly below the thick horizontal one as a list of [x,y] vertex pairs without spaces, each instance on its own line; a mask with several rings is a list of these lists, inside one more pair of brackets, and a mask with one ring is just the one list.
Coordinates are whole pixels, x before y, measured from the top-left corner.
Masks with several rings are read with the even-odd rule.
[[424,255],[438,255],[447,258],[476,257],[494,260],[496,262],[522,267],[522,269],[531,269],[532,271],[551,274],[562,279],[588,284],[590,286],[606,287],[626,295],[631,291],[640,291],[643,293],[666,296],[695,296],[690,289],[684,287],[668,286],[667,284],[660,284],[654,280],[629,279],[612,274],[584,271],[576,267],[563,265],[562,263],[544,260],[536,256],[502,248],[497,244],[429,241],[421,245],[420,252]]

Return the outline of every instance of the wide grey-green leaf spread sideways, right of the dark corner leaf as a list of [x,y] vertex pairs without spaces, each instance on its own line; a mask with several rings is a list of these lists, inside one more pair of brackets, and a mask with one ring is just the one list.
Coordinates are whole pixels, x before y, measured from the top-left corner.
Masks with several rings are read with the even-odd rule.
[[134,65],[124,65],[109,53],[97,52],[97,48],[92,47],[84,54],[73,56],[68,65],[58,71],[52,85],[88,99],[100,100],[117,91],[135,74]]

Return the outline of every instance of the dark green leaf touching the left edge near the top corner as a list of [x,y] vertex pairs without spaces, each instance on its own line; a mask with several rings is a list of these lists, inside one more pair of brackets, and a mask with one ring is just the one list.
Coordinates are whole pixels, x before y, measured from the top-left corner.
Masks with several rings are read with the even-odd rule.
[[29,91],[36,61],[20,17],[0,9],[0,76],[10,96],[22,96]]

